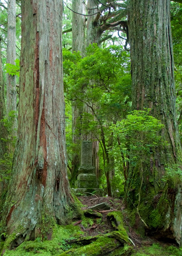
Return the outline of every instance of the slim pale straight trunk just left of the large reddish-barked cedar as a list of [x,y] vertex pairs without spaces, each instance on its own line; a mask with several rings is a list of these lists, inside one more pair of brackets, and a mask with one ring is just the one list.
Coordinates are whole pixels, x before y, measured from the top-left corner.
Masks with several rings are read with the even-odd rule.
[[[16,60],[16,1],[8,0],[8,30],[7,30],[7,58],[6,62],[15,64]],[[17,91],[16,76],[7,74],[6,84],[6,110],[7,115],[10,111],[17,110]],[[12,124],[13,136],[17,135],[17,118]]]

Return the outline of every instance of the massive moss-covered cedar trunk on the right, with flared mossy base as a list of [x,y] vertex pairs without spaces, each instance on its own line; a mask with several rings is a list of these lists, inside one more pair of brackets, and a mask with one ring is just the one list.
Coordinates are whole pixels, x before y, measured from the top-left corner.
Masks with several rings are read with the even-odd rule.
[[[131,0],[130,10],[133,109],[151,108],[151,115],[164,124],[161,136],[168,146],[158,145],[150,156],[144,156],[143,169],[130,165],[127,201],[136,213],[136,228],[143,225],[148,234],[180,244],[181,180],[176,171],[182,158],[175,112],[170,1]],[[165,167],[171,169],[168,177]]]

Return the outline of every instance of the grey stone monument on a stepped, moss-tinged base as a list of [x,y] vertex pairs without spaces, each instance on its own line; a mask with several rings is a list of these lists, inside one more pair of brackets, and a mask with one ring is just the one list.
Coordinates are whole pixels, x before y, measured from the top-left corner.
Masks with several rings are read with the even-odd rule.
[[90,196],[91,193],[102,195],[102,189],[99,188],[98,180],[95,174],[95,167],[92,165],[92,142],[82,141],[81,165],[78,168],[76,181],[76,195],[84,194]]

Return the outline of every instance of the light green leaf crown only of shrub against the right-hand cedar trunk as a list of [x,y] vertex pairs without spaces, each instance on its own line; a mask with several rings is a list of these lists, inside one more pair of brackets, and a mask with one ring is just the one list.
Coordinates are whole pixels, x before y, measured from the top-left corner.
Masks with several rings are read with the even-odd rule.
[[150,116],[150,109],[145,109],[132,111],[113,128],[120,137],[126,160],[136,166],[145,161],[146,154],[155,152],[159,143],[165,143],[160,136],[163,127],[157,118]]

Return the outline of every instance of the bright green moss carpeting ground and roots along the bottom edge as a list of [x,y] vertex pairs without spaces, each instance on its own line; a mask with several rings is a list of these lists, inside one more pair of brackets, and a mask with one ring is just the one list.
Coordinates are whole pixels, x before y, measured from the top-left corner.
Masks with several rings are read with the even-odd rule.
[[[122,215],[115,212],[111,212],[107,216],[110,219],[112,225],[116,224],[116,230],[111,234],[105,234],[103,236],[96,236],[95,241],[92,241],[90,244],[83,245],[82,243],[75,243],[75,240],[82,241],[84,238],[84,232],[80,230],[79,226],[74,226],[69,224],[67,226],[56,225],[54,227],[54,232],[52,240],[41,241],[40,238],[36,238],[35,241],[25,241],[15,250],[6,250],[3,254],[4,256],[34,256],[34,255],[43,255],[43,256],[97,256],[102,255],[102,252],[107,251],[108,248],[112,248],[113,244],[116,243],[116,249],[103,254],[111,256],[182,256],[182,247],[177,248],[173,245],[159,244],[154,243],[151,246],[142,246],[140,249],[132,247],[127,241],[126,230],[123,229]],[[114,222],[114,219],[116,222]],[[85,227],[89,226],[89,218],[85,218],[83,221]],[[118,230],[118,231],[117,231]],[[117,233],[118,232],[118,233]],[[113,234],[113,235],[112,235]],[[118,239],[116,240],[116,237]],[[87,237],[86,239],[90,239]],[[74,241],[73,241],[74,240]],[[117,248],[117,244],[124,242],[123,246]]]

